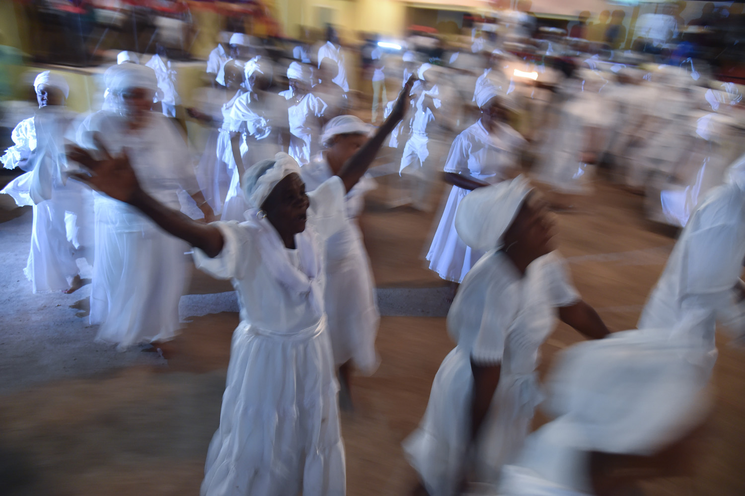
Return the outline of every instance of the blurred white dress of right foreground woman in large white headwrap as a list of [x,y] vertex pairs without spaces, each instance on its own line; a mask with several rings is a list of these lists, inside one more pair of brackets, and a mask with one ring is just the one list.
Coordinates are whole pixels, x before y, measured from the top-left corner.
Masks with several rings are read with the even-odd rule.
[[[469,458],[478,481],[492,483],[519,453],[541,401],[539,348],[554,330],[555,308],[577,299],[556,252],[533,261],[522,278],[507,255],[488,252],[463,279],[448,313],[448,332],[457,346],[437,371],[419,428],[404,441],[431,496],[456,494]],[[469,453],[471,360],[501,363],[475,453]]]

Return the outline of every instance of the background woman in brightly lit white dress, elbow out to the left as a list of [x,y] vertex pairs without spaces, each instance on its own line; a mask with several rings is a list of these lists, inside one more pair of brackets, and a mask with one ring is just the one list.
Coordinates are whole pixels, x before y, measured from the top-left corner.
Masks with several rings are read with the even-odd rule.
[[244,67],[235,60],[227,60],[220,72],[222,78],[218,83],[225,86],[226,98],[221,107],[221,119],[197,109],[188,109],[191,117],[219,126],[214,147],[210,140],[197,165],[197,181],[210,208],[221,214],[222,220],[242,220],[246,206],[240,194],[240,179],[244,173],[240,157],[246,152],[245,143],[241,143],[246,124],[232,118],[232,109],[238,99],[246,94]]

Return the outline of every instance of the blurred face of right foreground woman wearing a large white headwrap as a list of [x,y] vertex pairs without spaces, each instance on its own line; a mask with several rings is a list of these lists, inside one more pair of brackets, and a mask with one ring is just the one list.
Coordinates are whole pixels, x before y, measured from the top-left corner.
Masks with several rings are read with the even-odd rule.
[[524,270],[530,262],[555,249],[553,238],[554,220],[548,204],[539,194],[530,193],[504,233],[504,252]]

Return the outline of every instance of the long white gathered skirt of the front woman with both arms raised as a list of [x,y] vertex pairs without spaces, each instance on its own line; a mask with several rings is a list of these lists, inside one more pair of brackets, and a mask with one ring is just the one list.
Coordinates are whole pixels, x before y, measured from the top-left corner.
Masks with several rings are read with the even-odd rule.
[[241,322],[201,496],[343,496],[338,384],[325,319],[296,334]]

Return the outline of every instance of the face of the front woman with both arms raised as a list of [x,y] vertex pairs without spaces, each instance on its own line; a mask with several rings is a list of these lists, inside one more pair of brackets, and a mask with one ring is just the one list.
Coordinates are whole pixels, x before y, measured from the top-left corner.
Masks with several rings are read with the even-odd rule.
[[305,194],[305,183],[293,173],[279,181],[261,205],[285,247],[294,249],[295,235],[305,231],[310,204]]

